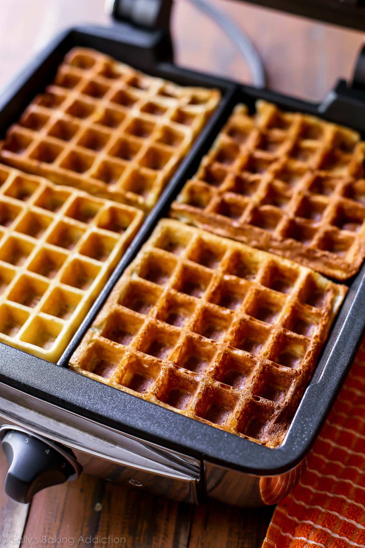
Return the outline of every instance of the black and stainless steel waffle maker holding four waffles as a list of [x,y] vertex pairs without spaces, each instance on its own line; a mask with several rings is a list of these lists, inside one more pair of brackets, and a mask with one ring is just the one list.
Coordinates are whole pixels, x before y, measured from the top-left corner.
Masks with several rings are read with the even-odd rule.
[[[362,0],[254,2],[316,19],[365,27]],[[365,265],[349,292],[285,441],[270,449],[199,423],[67,368],[69,357],[184,182],[198,168],[233,109],[265,99],[365,131],[365,54],[354,81],[339,81],[320,104],[239,85],[173,65],[169,20],[172,2],[112,1],[110,27],[80,26],[57,36],[3,93],[1,136],[50,82],[74,46],[91,47],[152,75],[180,84],[217,87],[221,104],[195,141],[128,252],[109,278],[57,365],[0,344],[0,438],[9,461],[5,492],[28,503],[39,490],[80,473],[189,503],[213,498],[237,506],[274,504],[300,478],[309,452],[340,390],[365,330]]]

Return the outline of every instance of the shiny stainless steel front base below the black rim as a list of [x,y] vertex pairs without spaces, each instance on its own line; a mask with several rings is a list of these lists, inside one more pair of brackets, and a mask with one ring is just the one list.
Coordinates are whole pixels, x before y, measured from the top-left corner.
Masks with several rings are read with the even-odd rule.
[[193,504],[203,502],[206,496],[236,506],[274,504],[276,500],[271,499],[275,493],[270,495],[270,482],[277,486],[298,476],[291,471],[275,478],[260,478],[200,461],[121,433],[2,383],[0,425],[22,427],[72,449],[83,473],[111,482],[129,482],[138,489]]

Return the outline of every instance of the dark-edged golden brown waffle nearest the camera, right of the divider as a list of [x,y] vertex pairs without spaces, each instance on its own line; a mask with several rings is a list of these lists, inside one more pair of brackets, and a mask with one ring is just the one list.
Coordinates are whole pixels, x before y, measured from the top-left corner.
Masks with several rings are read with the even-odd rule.
[[345,293],[292,261],[161,220],[70,364],[275,447]]

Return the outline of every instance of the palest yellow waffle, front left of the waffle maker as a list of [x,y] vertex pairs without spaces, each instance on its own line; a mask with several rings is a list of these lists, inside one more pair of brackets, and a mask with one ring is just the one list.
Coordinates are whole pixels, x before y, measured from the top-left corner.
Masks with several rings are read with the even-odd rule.
[[143,220],[0,165],[0,341],[56,362]]

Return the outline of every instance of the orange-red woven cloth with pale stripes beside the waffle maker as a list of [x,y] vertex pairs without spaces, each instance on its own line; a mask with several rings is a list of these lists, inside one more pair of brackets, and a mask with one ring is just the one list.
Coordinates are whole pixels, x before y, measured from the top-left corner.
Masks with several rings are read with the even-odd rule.
[[263,548],[365,548],[365,342]]

